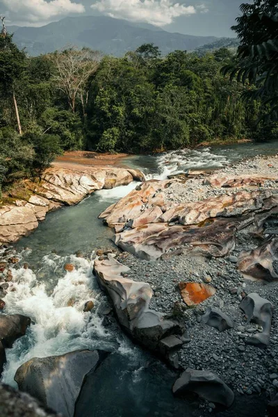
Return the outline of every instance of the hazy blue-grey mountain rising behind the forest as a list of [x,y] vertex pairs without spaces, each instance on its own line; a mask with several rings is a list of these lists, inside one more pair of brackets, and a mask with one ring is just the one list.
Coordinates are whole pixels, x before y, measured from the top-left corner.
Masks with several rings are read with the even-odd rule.
[[163,54],[167,54],[175,49],[193,51],[218,38],[169,33],[151,24],[138,24],[113,17],[83,16],[66,17],[41,27],[17,28],[14,40],[19,48],[26,47],[31,56],[53,52],[69,44],[123,56],[145,43],[153,42]]

